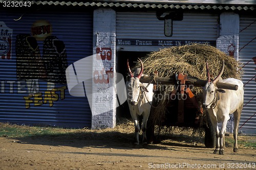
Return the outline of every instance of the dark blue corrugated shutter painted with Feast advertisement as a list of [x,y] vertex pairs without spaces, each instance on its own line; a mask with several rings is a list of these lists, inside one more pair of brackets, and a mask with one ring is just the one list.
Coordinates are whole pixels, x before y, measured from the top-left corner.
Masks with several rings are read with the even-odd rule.
[[93,13],[0,13],[0,122],[91,127],[88,100],[69,94],[65,70],[92,55]]

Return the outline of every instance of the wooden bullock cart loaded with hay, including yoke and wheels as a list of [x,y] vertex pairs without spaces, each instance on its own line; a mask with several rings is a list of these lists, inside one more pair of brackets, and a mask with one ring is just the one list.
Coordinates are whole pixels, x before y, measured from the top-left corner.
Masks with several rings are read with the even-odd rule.
[[[222,78],[241,79],[241,63],[214,46],[206,44],[187,44],[163,48],[141,58],[144,74],[141,82],[155,84],[150,117],[147,121],[147,140],[152,142],[155,125],[159,127],[192,127],[205,129],[205,145],[215,146],[215,129],[203,110],[201,87],[208,79],[208,69],[215,78],[219,75],[224,61],[225,71]],[[136,63],[135,68],[140,67]],[[155,70],[155,74],[152,74]],[[238,86],[217,83],[218,88],[236,90]],[[165,128],[168,129],[168,128]]]

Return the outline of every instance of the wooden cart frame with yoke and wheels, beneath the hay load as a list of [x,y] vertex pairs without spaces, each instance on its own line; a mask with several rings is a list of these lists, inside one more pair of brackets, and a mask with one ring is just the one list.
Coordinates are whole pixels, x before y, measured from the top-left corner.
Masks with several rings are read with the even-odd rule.
[[[154,97],[152,101],[151,113],[147,122],[147,142],[154,140],[155,125],[167,127],[191,127],[205,129],[205,146],[214,148],[216,144],[216,133],[211,125],[208,114],[204,114],[200,101],[195,98],[191,91],[194,87],[202,87],[207,80],[200,80],[187,74],[178,73],[170,77],[159,77],[157,71],[152,72],[150,76],[144,76],[140,79],[142,83],[154,84]],[[173,86],[173,90],[168,93],[161,93],[163,85]],[[237,90],[238,86],[234,84],[217,82],[218,88]],[[161,88],[159,88],[161,87]],[[159,101],[165,100],[165,114],[155,121],[155,112],[158,109]]]

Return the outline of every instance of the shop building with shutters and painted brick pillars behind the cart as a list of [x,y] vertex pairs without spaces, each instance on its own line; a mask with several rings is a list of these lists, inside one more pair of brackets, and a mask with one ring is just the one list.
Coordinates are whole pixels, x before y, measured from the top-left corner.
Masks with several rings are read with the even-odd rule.
[[[46,79],[43,79],[41,71],[38,73],[39,77],[29,78],[29,76],[18,74],[17,66],[22,62],[20,61],[22,59],[19,59],[22,55],[19,57],[19,53],[26,54],[28,51],[28,56],[33,54],[35,60],[38,58],[36,55],[40,56],[42,61],[37,62],[44,63],[44,66],[51,65],[47,58],[56,59],[57,56],[58,59],[63,59],[64,56],[65,62],[56,63],[63,62],[66,67],[84,57],[100,55],[101,59],[95,58],[92,61],[92,71],[98,71],[97,76],[101,74],[100,71],[109,71],[119,72],[125,77],[127,59],[132,63],[138,57],[144,57],[160,48],[188,43],[206,43],[234,56],[243,64],[242,81],[245,96],[240,131],[248,134],[256,133],[256,4],[253,2],[76,1],[52,3],[38,1],[36,4],[54,6],[55,10],[60,9],[60,12],[36,11],[24,15],[22,12],[13,14],[10,11],[3,12],[5,17],[2,18],[1,25],[6,27],[9,33],[12,31],[12,37],[9,43],[11,50],[5,52],[3,56],[6,57],[2,57],[1,63],[1,68],[4,68],[1,72],[1,90],[3,89],[0,95],[3,104],[2,114],[0,114],[1,122],[93,129],[113,128],[116,116],[126,114],[124,112],[128,110],[125,108],[125,103],[119,106],[121,104],[117,102],[118,94],[113,86],[108,88],[108,93],[93,94],[90,108],[90,101],[88,102],[86,97],[70,95],[67,85],[65,86],[67,82],[62,81],[66,89],[62,89],[65,91],[65,99],[61,99],[61,94],[56,89],[63,87],[58,82],[61,82],[60,69],[64,66],[59,66],[60,69],[55,68],[54,65],[49,66],[53,67],[50,70],[58,75],[56,77],[51,73],[47,75],[46,72]],[[61,11],[63,7],[66,11]],[[70,11],[69,8],[75,10],[67,12],[67,10]],[[13,20],[20,16],[22,16],[21,19]],[[45,26],[36,25],[36,21],[39,20],[46,21]],[[54,43],[48,42],[48,39],[36,38],[37,27],[39,30],[41,28],[47,31],[48,25],[51,25],[49,41],[53,42],[52,39],[57,38],[59,44],[65,45],[66,57],[62,56],[63,53],[56,52]],[[31,28],[34,32],[31,32]],[[30,37],[34,37],[34,41],[38,43],[37,51],[19,50],[16,39],[19,38],[19,41],[24,39],[24,35],[20,37],[19,34],[30,34]],[[5,38],[8,39],[8,37],[2,37],[2,39]],[[22,49],[24,47],[30,46],[24,43]],[[47,53],[50,54],[47,55]],[[99,61],[103,63],[103,69]],[[44,69],[43,66],[42,69]],[[109,81],[108,83],[111,83],[112,79]],[[97,81],[92,81],[92,84],[84,83],[85,86],[92,85],[94,90],[100,87],[97,84],[101,83]],[[30,86],[33,88],[29,88]],[[49,96],[53,98],[52,101],[49,100]],[[53,96],[58,96],[58,100]],[[112,100],[99,102],[100,98]],[[103,108],[108,108],[108,111]],[[98,114],[99,110],[103,112]]]

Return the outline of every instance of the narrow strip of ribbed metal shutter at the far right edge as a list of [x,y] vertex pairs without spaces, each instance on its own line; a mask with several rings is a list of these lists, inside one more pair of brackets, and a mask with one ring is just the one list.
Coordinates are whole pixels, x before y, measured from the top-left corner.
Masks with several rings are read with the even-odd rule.
[[239,60],[243,63],[244,108],[240,130],[256,134],[256,18],[240,17]]

